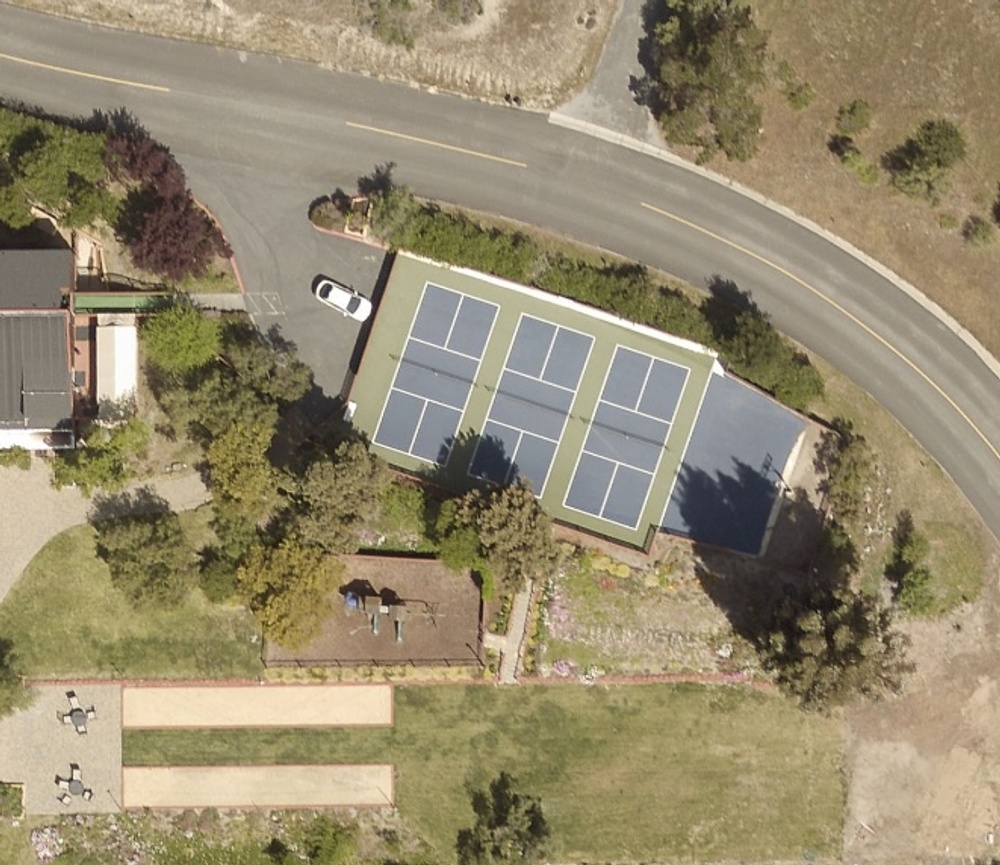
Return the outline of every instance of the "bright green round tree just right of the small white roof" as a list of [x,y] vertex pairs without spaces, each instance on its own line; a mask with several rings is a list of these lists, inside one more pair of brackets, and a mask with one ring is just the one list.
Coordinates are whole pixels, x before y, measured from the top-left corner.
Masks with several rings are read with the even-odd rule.
[[146,359],[170,375],[184,375],[211,363],[222,344],[219,322],[190,302],[175,299],[142,323]]

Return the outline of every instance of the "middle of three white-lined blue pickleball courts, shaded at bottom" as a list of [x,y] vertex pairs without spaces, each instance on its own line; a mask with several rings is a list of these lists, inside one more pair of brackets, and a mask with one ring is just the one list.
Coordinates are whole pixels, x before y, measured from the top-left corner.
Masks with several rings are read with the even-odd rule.
[[541,494],[593,343],[589,334],[521,316],[471,476],[499,484],[521,477]]

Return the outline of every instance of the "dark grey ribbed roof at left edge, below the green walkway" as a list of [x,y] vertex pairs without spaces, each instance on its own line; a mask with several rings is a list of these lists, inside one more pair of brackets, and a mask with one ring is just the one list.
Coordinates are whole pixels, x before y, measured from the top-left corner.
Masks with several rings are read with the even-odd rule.
[[66,313],[0,314],[0,428],[70,426]]

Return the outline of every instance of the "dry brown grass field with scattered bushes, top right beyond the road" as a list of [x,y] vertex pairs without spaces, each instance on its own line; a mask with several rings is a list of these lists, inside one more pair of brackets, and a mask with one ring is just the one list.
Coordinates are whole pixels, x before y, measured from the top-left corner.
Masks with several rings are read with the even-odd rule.
[[[967,216],[989,217],[1000,180],[1000,6],[995,0],[760,0],[758,23],[778,58],[815,89],[793,111],[780,93],[765,100],[759,156],[711,167],[808,216],[910,280],[1000,353],[996,278],[1000,243],[974,249],[961,236]],[[940,207],[894,192],[885,175],[866,186],[830,153],[838,106],[866,99],[870,131],[857,136],[878,163],[923,120],[957,121],[968,155]]]

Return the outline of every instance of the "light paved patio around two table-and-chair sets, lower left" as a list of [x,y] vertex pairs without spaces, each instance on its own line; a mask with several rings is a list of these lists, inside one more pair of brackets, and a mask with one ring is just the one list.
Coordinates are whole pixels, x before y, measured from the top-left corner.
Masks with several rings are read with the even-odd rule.
[[[24,784],[28,814],[101,814],[121,810],[122,728],[121,688],[118,685],[38,685],[35,702],[0,721],[0,780]],[[66,692],[73,690],[85,708],[97,717],[80,735],[62,724],[56,712],[69,708]],[[55,777],[69,777],[77,763],[84,786],[93,790],[89,801],[73,796],[68,805],[56,797],[62,791]]]

